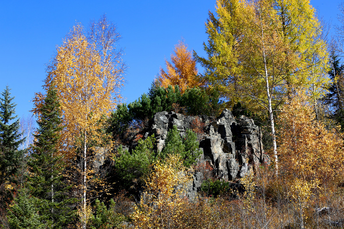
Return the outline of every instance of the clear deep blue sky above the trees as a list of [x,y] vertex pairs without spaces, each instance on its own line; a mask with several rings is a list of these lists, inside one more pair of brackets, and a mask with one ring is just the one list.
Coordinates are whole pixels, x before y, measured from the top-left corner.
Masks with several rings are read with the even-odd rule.
[[[338,1],[311,0],[311,4],[336,24]],[[9,1],[0,2],[0,90],[8,84],[16,96],[17,114],[29,115],[34,92],[42,90],[45,64],[56,45],[75,21],[87,26],[90,19],[106,13],[117,23],[125,48],[123,60],[128,65],[122,95],[127,102],[147,92],[164,58],[169,58],[183,37],[203,55],[206,41],[204,22],[215,0],[174,1]]]

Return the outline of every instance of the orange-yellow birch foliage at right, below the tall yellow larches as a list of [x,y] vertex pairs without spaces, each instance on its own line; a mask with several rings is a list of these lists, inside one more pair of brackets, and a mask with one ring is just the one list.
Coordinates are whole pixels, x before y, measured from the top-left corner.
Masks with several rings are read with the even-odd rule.
[[309,101],[310,97],[299,91],[283,106],[278,144],[281,174],[292,182],[297,178],[315,186],[342,175],[343,136],[316,121]]

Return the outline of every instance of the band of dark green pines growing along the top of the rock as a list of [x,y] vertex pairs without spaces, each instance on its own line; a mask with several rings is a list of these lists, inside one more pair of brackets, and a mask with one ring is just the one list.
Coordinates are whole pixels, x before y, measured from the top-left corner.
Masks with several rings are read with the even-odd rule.
[[162,111],[175,111],[173,106],[179,106],[185,115],[208,115],[216,117],[223,108],[216,90],[201,88],[187,89],[181,94],[178,85],[168,88],[152,83],[148,94],[142,94],[138,100],[117,106],[108,119],[107,133],[114,139],[123,137],[125,131],[134,122],[140,123],[152,119],[154,114]]

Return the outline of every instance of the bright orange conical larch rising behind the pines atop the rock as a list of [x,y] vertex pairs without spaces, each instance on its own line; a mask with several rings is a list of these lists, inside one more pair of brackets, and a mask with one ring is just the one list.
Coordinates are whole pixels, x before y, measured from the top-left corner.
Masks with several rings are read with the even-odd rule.
[[196,61],[187,50],[184,41],[179,41],[171,54],[171,62],[165,59],[166,71],[160,68],[158,82],[161,87],[178,85],[182,93],[187,88],[202,87],[203,83],[197,77]]

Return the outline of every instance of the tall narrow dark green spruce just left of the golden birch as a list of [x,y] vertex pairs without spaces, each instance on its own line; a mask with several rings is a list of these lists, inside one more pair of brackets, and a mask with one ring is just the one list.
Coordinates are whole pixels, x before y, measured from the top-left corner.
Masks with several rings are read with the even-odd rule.
[[28,161],[28,189],[37,199],[42,220],[50,228],[63,228],[73,218],[74,211],[68,207],[73,199],[66,195],[68,185],[63,183],[63,158],[57,155],[60,139],[61,115],[56,90],[47,91]]

